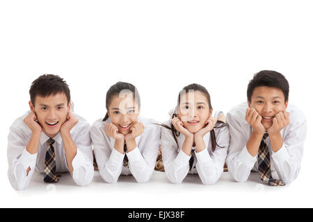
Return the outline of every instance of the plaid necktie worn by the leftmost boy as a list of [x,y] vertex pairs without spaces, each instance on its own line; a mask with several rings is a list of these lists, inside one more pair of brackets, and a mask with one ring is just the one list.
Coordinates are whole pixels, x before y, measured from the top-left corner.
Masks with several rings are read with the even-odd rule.
[[58,182],[61,175],[56,174],[56,154],[54,153],[54,139],[48,139],[47,153],[45,158],[45,182]]

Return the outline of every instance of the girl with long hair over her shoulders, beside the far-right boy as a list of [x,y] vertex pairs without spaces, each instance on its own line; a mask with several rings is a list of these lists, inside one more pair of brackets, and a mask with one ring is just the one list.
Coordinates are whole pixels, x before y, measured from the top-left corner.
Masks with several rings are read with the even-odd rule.
[[161,153],[166,176],[181,183],[188,173],[198,173],[202,183],[212,185],[223,173],[230,134],[218,121],[207,89],[187,85],[179,92],[170,120],[161,124]]

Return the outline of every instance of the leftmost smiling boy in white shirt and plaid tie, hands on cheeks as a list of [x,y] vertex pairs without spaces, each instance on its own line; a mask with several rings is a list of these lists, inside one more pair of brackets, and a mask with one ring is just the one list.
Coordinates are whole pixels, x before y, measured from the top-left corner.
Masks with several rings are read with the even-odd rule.
[[8,135],[8,178],[25,189],[33,172],[45,182],[58,182],[57,172],[70,171],[77,185],[93,179],[90,125],[71,111],[70,89],[56,75],[42,75],[29,90],[30,111],[19,117]]

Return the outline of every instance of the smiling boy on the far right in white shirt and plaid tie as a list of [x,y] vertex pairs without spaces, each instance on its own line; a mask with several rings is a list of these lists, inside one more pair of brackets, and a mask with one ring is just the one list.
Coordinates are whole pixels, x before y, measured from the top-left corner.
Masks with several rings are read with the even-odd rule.
[[289,83],[277,71],[259,71],[250,80],[248,103],[227,114],[230,147],[226,163],[237,182],[258,171],[267,185],[296,179],[307,133],[305,115],[288,104]]

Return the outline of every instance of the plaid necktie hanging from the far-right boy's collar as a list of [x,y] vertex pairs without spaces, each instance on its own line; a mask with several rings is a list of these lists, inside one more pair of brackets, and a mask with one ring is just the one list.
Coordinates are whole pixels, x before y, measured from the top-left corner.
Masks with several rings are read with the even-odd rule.
[[259,178],[267,185],[270,186],[284,186],[282,180],[276,180],[271,176],[271,159],[269,156],[268,146],[265,139],[268,137],[268,133],[265,133],[262,142],[259,145],[259,153],[257,162],[259,164]]

